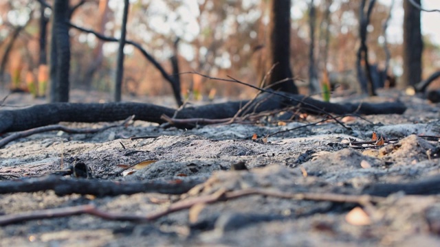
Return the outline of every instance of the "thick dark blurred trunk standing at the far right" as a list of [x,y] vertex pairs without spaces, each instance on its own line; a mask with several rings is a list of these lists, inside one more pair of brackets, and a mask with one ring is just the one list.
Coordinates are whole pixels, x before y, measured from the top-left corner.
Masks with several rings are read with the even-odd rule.
[[[414,0],[420,5],[421,0]],[[404,1],[404,74],[401,86],[415,85],[421,81],[421,40],[420,10],[409,1]]]

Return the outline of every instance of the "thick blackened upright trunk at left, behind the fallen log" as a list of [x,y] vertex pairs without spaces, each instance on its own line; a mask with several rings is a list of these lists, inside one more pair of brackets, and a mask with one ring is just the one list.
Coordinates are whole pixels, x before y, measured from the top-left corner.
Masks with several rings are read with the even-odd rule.
[[50,102],[69,102],[69,1],[55,0],[50,52]]

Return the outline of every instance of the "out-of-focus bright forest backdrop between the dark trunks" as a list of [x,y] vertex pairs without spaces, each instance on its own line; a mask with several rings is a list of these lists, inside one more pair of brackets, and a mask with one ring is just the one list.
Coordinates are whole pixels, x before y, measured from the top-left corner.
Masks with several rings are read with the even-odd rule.
[[[53,1],[45,1],[53,5]],[[270,1],[265,0],[133,0],[129,1],[126,38],[142,45],[168,73],[173,59],[179,71],[197,71],[218,78],[228,75],[259,86],[270,69],[267,49],[270,42]],[[355,75],[356,50],[360,45],[359,18],[362,1],[315,0],[293,1],[291,10],[290,60],[300,93],[307,94],[310,58],[319,80],[325,69],[339,75]],[[385,67],[386,52],[391,54],[388,75],[403,73],[403,3],[377,1],[367,27],[369,62]],[[422,1],[423,3],[423,1]],[[122,0],[71,0],[71,23],[118,39],[121,33]],[[311,16],[311,7],[314,16]],[[76,8],[75,8],[76,7]],[[0,75],[2,90],[30,91],[38,96],[47,93],[52,11],[41,1],[0,1]],[[425,13],[439,15],[439,13]],[[384,23],[391,15],[388,32]],[[311,18],[314,32],[311,32]],[[400,20],[399,20],[400,19]],[[43,24],[42,24],[43,23]],[[432,23],[422,23],[422,26]],[[46,25],[45,34],[41,25]],[[311,34],[314,36],[311,36]],[[115,78],[118,43],[106,43],[94,34],[70,28],[71,89],[110,92]],[[41,40],[46,40],[44,47]],[[176,41],[179,40],[177,43]],[[314,45],[311,52],[310,45]],[[423,76],[440,67],[436,37],[423,35]],[[281,48],[282,49],[282,48]],[[132,45],[124,47],[125,95],[168,95],[171,88],[161,73]],[[349,84],[356,84],[354,77]],[[195,99],[207,95],[248,98],[253,89],[236,84],[208,81],[199,75],[180,76],[181,93]]]

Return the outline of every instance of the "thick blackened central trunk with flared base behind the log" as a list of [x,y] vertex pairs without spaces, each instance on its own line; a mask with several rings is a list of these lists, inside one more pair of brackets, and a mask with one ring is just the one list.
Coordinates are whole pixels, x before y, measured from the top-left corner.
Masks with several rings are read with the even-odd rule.
[[[272,0],[270,53],[276,64],[270,75],[272,89],[298,93],[290,68],[290,0]],[[279,83],[281,80],[285,82]]]

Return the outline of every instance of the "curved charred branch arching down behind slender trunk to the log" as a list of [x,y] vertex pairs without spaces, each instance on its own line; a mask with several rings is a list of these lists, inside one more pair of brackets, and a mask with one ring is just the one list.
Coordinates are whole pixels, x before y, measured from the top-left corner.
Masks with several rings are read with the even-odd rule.
[[[82,32],[87,32],[89,34],[94,34],[97,38],[104,40],[104,41],[108,41],[108,42],[118,42],[119,40],[117,38],[113,38],[113,37],[109,37],[109,36],[104,36],[102,34],[98,34],[97,32],[94,32],[94,30],[88,30],[84,27],[78,27],[77,25],[74,25],[73,23],[67,23],[69,26],[74,27],[77,30],[80,30]],[[130,44],[133,45],[134,47],[136,47],[141,53],[142,55],[144,55],[144,57],[146,58],[146,60],[150,61],[154,67],[156,67],[157,70],[159,70],[159,72],[161,73],[162,77],[167,80],[168,82],[170,82],[171,87],[173,89],[173,94],[174,97],[176,99],[176,102],[179,106],[181,106],[183,104],[183,101],[181,99],[181,95],[180,95],[180,85],[177,84],[177,82],[175,82],[175,80],[168,75],[168,73],[166,73],[165,69],[162,67],[162,65],[159,64],[159,62],[157,62],[157,60],[155,60],[155,58],[153,58],[153,56],[151,56],[150,54],[148,54],[148,52],[146,52],[146,50],[144,48],[142,48],[142,46],[138,43],[135,43],[134,41],[131,40],[125,40],[126,44]]]

